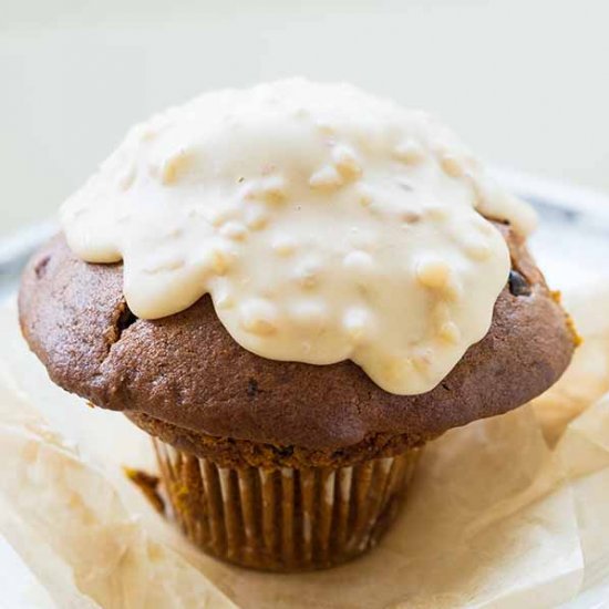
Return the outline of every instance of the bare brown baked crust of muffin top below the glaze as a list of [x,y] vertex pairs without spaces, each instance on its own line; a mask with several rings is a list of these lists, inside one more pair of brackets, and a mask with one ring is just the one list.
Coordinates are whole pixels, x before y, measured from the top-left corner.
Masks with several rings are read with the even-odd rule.
[[[515,409],[567,368],[576,342],[569,319],[524,239],[496,226],[524,288],[512,285],[510,291],[506,285],[487,336],[421,395],[386,393],[350,361],[312,365],[255,355],[228,334],[208,296],[167,318],[135,319],[123,297],[122,265],[86,264],[61,235],[24,271],[21,328],[56,384],[97,406],[124,411],[189,452],[226,456],[226,442],[210,442],[211,436],[229,438],[233,448],[244,441],[234,450],[250,455],[242,458],[252,464],[261,462],[251,456],[251,443],[296,447],[298,461],[318,453],[322,462],[336,454],[347,462],[353,455],[369,458]],[[262,453],[262,462],[275,458]],[[277,454],[286,458],[285,451]]]

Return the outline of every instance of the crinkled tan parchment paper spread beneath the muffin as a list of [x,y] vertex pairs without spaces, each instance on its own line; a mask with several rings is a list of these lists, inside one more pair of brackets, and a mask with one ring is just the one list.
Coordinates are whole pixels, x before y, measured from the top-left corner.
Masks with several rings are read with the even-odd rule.
[[431,443],[399,522],[368,556],[292,576],[189,547],[122,473],[154,472],[145,434],[52,385],[6,307],[0,533],[61,608],[602,607],[609,290],[568,300],[587,342],[565,379]]

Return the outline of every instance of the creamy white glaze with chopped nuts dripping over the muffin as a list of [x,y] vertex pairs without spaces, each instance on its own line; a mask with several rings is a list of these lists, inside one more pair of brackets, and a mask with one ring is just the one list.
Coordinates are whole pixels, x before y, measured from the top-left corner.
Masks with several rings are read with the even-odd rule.
[[343,84],[205,94],[136,125],[62,208],[71,248],[124,260],[147,319],[209,292],[259,355],[351,359],[430,391],[488,331],[509,254],[481,214],[529,208],[426,114]]

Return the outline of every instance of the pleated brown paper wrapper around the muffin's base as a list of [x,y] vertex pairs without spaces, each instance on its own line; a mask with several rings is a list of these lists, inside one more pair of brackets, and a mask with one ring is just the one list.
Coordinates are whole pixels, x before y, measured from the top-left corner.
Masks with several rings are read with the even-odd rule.
[[329,567],[394,518],[417,450],[349,467],[219,467],[154,437],[173,517],[205,553],[276,571]]

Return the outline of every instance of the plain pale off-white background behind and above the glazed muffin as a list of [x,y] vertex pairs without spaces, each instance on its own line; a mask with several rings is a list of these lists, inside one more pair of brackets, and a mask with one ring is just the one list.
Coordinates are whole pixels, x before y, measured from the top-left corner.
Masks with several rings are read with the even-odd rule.
[[609,192],[607,0],[0,0],[0,236],[133,122],[306,74],[425,107],[484,158]]

